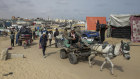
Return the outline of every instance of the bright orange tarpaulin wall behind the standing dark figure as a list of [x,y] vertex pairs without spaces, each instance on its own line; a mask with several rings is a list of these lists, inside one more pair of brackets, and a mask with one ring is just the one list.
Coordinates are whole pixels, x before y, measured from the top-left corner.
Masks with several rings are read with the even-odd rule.
[[106,17],[86,17],[87,30],[96,30],[96,22],[99,20],[100,24],[106,24]]

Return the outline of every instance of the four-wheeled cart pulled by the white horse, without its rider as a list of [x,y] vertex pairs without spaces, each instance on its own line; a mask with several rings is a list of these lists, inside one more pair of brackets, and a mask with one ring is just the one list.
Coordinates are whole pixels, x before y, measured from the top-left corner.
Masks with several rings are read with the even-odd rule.
[[60,50],[60,58],[69,58],[71,64],[77,64],[81,57],[88,58],[91,54],[91,49],[82,42],[71,45],[65,39],[63,44],[64,48]]

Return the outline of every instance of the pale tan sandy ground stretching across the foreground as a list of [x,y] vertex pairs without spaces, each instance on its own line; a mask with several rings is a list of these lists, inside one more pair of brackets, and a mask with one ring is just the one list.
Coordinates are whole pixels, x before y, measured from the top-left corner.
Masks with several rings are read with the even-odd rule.
[[[121,39],[108,38],[110,43],[120,42]],[[128,40],[125,40],[128,41]],[[38,40],[30,48],[15,46],[9,53],[21,53],[26,58],[8,59],[0,61],[0,79],[138,79],[140,78],[140,43],[131,43],[131,59],[123,56],[113,59],[114,75],[110,74],[110,64],[106,64],[103,71],[100,66],[103,58],[96,57],[96,64],[89,67],[87,61],[76,65],[70,64],[68,59],[60,59],[60,48],[48,47],[46,58],[43,58]],[[0,37],[0,52],[10,46],[9,38]],[[3,76],[13,72],[12,75]]]

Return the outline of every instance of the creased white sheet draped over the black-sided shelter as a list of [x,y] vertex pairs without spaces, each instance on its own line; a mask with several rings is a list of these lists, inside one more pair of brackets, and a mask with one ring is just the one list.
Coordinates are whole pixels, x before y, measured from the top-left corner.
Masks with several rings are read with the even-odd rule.
[[130,26],[130,14],[121,14],[121,15],[110,15],[109,24],[115,27],[125,27]]

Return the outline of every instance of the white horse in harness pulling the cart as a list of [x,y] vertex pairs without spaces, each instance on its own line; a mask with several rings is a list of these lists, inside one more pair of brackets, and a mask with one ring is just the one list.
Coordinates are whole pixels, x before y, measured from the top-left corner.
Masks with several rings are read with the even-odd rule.
[[[105,47],[104,47],[105,46]],[[111,64],[111,74],[113,74],[113,67],[114,64],[112,63],[111,59],[123,55],[125,59],[130,59],[130,46],[129,43],[125,43],[121,41],[121,43],[118,43],[116,45],[110,45],[110,44],[95,44],[92,47],[93,52],[88,57],[89,65],[92,66],[95,62],[93,62],[94,58],[96,56],[102,56],[105,58],[105,61],[101,65],[100,71],[102,71],[103,66],[109,62]]]

